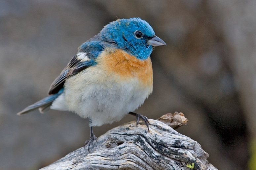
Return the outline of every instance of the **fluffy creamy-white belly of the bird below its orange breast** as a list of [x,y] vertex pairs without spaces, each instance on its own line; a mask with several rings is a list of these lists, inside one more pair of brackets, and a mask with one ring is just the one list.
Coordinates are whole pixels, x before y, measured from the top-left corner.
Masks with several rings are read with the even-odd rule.
[[101,126],[121,120],[141,106],[152,92],[153,85],[142,86],[136,78],[120,81],[98,70],[90,67],[68,78],[63,95],[51,109],[73,111],[90,118],[91,126]]

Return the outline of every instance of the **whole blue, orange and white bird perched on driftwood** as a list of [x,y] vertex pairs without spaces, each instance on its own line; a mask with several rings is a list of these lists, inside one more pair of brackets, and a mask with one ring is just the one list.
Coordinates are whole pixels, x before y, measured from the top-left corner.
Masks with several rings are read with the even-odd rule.
[[18,115],[39,109],[71,111],[90,120],[90,145],[96,136],[92,127],[136,116],[136,126],[146,116],[133,112],[153,91],[150,55],[153,47],[166,45],[141,18],[117,19],[105,25],[78,48],[49,89],[49,96],[26,107]]

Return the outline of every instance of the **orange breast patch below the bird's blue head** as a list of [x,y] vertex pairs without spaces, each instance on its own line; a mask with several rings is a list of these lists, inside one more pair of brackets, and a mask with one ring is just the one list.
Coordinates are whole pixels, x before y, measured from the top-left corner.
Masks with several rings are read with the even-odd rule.
[[107,73],[118,76],[120,80],[128,81],[137,78],[143,85],[153,84],[150,58],[142,61],[118,49],[115,51],[105,50],[97,62]]

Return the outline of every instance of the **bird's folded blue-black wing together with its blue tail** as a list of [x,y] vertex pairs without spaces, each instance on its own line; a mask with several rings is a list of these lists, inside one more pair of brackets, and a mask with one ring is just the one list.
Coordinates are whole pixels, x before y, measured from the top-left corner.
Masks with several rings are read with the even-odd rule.
[[40,112],[48,109],[54,100],[58,98],[61,93],[64,91],[64,83],[65,80],[73,76],[86,68],[93,66],[96,64],[95,59],[98,55],[104,50],[104,42],[100,41],[100,37],[98,35],[89,39],[87,42],[82,44],[79,49],[77,55],[75,55],[69,62],[68,65],[62,70],[60,75],[55,79],[52,83],[49,94],[50,96],[34,103],[18,112],[18,115],[28,113],[32,110],[38,109]]

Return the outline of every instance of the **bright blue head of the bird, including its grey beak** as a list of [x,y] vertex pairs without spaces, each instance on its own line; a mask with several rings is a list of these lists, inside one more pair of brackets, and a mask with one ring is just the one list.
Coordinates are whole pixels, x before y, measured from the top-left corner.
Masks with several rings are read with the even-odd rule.
[[166,45],[155,36],[149,23],[140,18],[118,19],[107,24],[100,34],[104,41],[114,42],[119,48],[140,60],[150,56],[153,46]]

